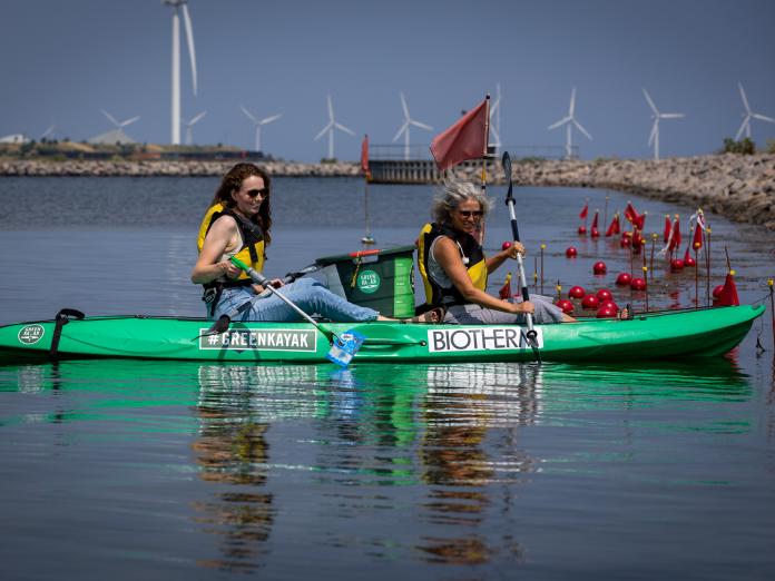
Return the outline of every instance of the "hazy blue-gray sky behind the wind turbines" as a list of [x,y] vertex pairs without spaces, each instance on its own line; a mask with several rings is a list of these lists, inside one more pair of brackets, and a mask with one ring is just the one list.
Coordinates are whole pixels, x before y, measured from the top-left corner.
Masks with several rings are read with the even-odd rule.
[[[430,142],[461,109],[501,85],[507,146],[562,145],[547,127],[568,111],[582,158],[649,157],[646,88],[664,112],[665,156],[719,148],[743,120],[737,82],[755,112],[775,118],[775,2],[772,0],[189,0],[199,92],[182,49],[183,117],[199,144],[253,148],[239,110],[263,118],[263,149],[316,161],[326,139],[326,95],[357,135],[336,136],[336,157],[356,159],[361,136],[386,144],[402,124]],[[159,0],[0,0],[0,136],[81,140],[124,120],[138,141],[170,140],[171,14]],[[185,127],[185,126],[184,126]],[[759,146],[775,125],[753,121]],[[185,139],[185,129],[182,130]]]

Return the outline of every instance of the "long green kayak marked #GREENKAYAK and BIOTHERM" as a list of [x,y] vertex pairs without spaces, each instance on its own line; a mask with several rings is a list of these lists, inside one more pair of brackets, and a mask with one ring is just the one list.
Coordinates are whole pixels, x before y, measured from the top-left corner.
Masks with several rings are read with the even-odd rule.
[[[739,344],[764,306],[637,314],[627,321],[581,319],[538,325],[542,361],[621,361],[710,357]],[[57,323],[59,322],[59,324]],[[115,316],[19,323],[0,327],[0,363],[128,357],[213,362],[324,363],[328,339],[308,323],[232,323],[203,335],[210,321]],[[330,323],[336,334],[365,341],[355,362],[533,361],[527,328],[518,325]]]

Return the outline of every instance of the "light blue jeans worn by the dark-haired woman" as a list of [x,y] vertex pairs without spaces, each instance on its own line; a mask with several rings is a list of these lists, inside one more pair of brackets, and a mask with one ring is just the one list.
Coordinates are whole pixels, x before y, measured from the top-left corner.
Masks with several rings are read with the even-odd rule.
[[[340,323],[363,323],[375,321],[379,313],[373,308],[362,307],[349,303],[339,295],[328,290],[313,278],[300,278],[279,289],[285,297],[298,306],[306,314],[318,315]],[[224,288],[220,301],[215,307],[213,318],[226,315],[246,301],[255,298],[251,308],[245,309],[235,321],[262,321],[277,323],[293,323],[304,321],[293,308],[286,305],[275,294],[266,294],[256,298],[249,286]]]

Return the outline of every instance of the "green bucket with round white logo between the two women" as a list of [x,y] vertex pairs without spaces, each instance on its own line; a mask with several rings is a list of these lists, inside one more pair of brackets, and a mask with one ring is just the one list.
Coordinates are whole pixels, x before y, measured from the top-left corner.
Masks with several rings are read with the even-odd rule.
[[360,250],[315,260],[328,289],[386,317],[414,316],[414,246]]

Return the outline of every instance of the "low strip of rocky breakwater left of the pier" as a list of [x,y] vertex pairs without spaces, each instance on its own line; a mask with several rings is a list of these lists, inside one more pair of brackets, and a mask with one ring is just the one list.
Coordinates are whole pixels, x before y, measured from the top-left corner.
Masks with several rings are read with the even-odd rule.
[[[0,160],[0,176],[223,176],[239,161],[160,161],[160,160]],[[359,175],[352,163],[297,164],[293,161],[257,161],[272,176],[349,177]]]

